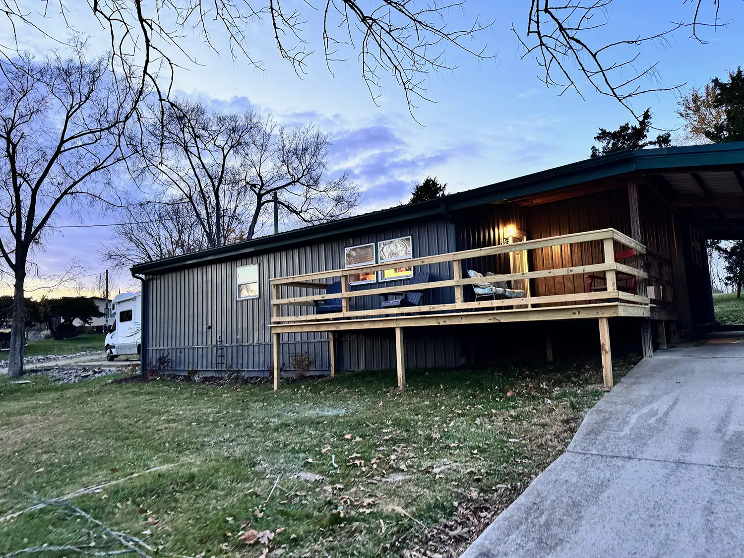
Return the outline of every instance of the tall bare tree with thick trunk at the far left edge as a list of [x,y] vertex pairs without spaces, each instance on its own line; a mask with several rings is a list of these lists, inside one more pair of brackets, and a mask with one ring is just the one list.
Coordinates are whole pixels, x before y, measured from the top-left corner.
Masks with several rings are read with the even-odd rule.
[[23,369],[25,281],[45,226],[62,207],[106,202],[111,170],[124,161],[125,121],[136,92],[88,60],[85,46],[44,60],[0,60],[0,255],[13,275],[8,372]]

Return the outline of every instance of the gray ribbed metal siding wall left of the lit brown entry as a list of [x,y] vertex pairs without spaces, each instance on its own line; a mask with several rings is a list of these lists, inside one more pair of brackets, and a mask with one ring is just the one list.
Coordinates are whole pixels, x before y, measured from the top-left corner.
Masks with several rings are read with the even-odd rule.
[[[271,316],[270,278],[341,269],[344,247],[408,235],[411,236],[414,257],[443,254],[454,249],[454,232],[454,225],[445,220],[422,222],[327,243],[149,275],[147,366],[153,366],[158,356],[164,356],[170,359],[168,368],[173,371],[240,370],[266,374],[272,365],[272,340],[268,327]],[[259,266],[260,295],[255,299],[239,301],[236,269],[249,263]],[[432,280],[452,278],[449,263],[426,267]],[[385,286],[405,282],[391,281]],[[283,289],[283,296],[289,294],[306,292],[304,289],[291,289],[291,292]],[[452,301],[452,289],[434,289],[426,293],[423,304]],[[379,297],[353,298],[351,307],[352,310],[378,308]],[[292,333],[281,337],[281,361],[284,367],[289,368],[292,354],[307,353],[314,362],[311,372],[330,370],[327,333]],[[408,367],[451,368],[461,361],[459,340],[447,336],[446,332],[411,331],[407,332],[406,337]],[[224,365],[217,362],[220,338],[224,347]],[[394,368],[391,332],[348,333],[341,336],[339,345],[339,368],[342,370]]]

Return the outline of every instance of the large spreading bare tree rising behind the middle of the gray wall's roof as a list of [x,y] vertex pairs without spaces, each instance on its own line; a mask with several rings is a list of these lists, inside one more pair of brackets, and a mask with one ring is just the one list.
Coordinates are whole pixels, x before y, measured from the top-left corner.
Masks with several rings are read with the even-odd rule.
[[164,126],[160,118],[144,126],[135,178],[189,208],[205,247],[253,238],[274,196],[284,219],[307,224],[344,217],[359,201],[345,174],[327,179],[330,140],[317,126],[288,128],[186,100],[165,105]]

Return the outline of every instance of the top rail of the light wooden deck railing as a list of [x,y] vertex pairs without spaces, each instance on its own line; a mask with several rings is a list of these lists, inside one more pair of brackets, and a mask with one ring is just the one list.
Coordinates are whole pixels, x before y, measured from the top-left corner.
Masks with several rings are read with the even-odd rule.
[[[327,279],[333,277],[344,277],[356,275],[361,272],[381,272],[390,269],[391,266],[408,267],[408,266],[426,266],[431,263],[451,262],[458,260],[467,260],[472,257],[492,256],[495,254],[508,254],[510,252],[533,250],[536,248],[547,248],[548,246],[560,246],[562,244],[574,244],[581,242],[590,242],[592,240],[604,240],[612,238],[629,248],[638,250],[641,254],[645,253],[646,247],[626,234],[616,231],[614,228],[602,228],[597,231],[586,231],[572,234],[562,234],[556,237],[538,238],[535,240],[525,240],[521,243],[501,244],[499,246],[486,246],[484,248],[474,248],[472,250],[463,250],[457,252],[447,252],[446,254],[434,254],[432,256],[414,257],[410,260],[395,260],[394,262],[378,263],[373,266],[360,266],[347,269],[332,269],[325,272],[305,273],[303,275],[292,275],[289,277],[273,278],[270,282],[273,285],[283,285],[287,283],[308,282],[317,279]],[[309,285],[308,285],[309,286]],[[318,288],[322,287],[318,283]]]

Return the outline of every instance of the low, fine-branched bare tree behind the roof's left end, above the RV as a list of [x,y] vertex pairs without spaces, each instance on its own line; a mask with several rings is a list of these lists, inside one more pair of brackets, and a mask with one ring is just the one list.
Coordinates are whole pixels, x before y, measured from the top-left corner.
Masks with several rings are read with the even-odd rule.
[[206,248],[202,228],[184,200],[142,202],[126,210],[99,253],[115,269]]

